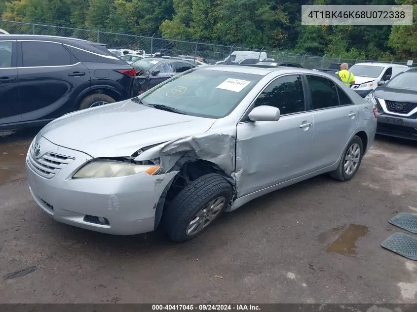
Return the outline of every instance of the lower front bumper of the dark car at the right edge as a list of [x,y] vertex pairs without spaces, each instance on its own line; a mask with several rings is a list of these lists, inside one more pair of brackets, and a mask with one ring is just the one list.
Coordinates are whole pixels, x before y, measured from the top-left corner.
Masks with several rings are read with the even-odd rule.
[[378,115],[377,134],[417,140],[417,119],[387,114]]

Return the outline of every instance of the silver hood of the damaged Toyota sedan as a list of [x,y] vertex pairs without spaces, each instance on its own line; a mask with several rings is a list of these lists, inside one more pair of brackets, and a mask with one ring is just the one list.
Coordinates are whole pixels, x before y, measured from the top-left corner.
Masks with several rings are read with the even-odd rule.
[[54,144],[92,157],[120,157],[146,146],[204,133],[214,122],[128,100],[64,115],[40,134]]

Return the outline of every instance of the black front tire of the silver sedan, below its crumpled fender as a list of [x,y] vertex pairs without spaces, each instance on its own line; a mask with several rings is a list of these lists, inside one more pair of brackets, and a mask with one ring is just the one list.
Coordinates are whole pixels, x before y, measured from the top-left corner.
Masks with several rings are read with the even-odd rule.
[[[222,214],[232,194],[231,185],[218,173],[206,174],[191,181],[168,205],[163,216],[165,232],[172,241],[177,243],[193,239],[203,233]],[[221,201],[224,198],[225,203],[216,216],[201,231],[187,235],[190,222],[196,218],[197,213],[217,198],[222,198]]]

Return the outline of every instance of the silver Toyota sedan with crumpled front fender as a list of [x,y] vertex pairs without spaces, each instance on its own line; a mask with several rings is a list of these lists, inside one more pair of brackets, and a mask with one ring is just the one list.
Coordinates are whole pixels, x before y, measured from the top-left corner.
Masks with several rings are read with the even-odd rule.
[[358,171],[374,104],[296,68],[190,69],[137,98],[64,115],[31,143],[27,180],[55,220],[176,242],[223,211],[312,176]]

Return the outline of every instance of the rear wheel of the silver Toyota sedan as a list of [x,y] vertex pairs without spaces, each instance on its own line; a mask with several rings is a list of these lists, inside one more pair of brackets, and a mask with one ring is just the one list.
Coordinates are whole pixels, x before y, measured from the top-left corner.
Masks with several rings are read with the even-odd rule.
[[330,174],[336,180],[348,181],[358,171],[362,162],[363,143],[362,139],[354,136],[347,144],[347,147],[341,157],[338,169],[332,171]]

